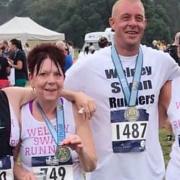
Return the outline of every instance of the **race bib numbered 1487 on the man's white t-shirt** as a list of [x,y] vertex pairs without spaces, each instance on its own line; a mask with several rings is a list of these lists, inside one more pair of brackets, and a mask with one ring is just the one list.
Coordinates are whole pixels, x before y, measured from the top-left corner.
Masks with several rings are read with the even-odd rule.
[[[134,115],[134,113],[133,113]],[[137,119],[127,119],[125,110],[111,112],[112,148],[114,153],[142,152],[145,150],[148,117],[144,109],[138,109]]]

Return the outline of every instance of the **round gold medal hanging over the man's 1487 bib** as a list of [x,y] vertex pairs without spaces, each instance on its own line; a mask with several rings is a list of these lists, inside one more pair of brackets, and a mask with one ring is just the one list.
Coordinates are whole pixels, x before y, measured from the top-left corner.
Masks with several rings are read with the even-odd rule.
[[124,117],[128,121],[136,121],[139,118],[139,110],[135,106],[128,107],[124,112]]

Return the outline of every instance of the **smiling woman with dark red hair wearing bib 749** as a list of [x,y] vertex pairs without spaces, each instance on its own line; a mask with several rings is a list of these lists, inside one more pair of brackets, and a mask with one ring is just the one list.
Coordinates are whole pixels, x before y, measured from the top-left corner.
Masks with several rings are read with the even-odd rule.
[[[28,56],[29,79],[36,98],[21,109],[19,157],[29,179],[42,173],[43,166],[47,179],[52,177],[54,169],[58,179],[61,178],[58,172],[63,168],[63,177],[74,180],[84,178],[82,169],[92,171],[96,167],[90,121],[64,98],[59,98],[64,82],[64,58],[63,50],[52,44],[41,44]],[[21,179],[23,175],[17,166],[15,176]]]

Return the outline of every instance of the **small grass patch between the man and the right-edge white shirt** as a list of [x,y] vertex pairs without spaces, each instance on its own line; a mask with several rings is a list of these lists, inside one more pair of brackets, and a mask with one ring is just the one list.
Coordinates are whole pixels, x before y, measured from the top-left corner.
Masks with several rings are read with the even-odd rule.
[[163,149],[165,164],[169,161],[169,152],[171,151],[172,141],[167,141],[168,132],[165,129],[160,130],[160,142]]

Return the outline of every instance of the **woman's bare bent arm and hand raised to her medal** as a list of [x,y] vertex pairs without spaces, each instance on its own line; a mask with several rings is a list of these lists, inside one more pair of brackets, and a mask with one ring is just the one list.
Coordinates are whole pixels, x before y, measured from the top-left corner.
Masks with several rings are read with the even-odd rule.
[[79,114],[75,106],[73,106],[73,110],[77,135],[69,136],[62,142],[62,145],[67,145],[75,150],[83,169],[90,172],[96,168],[97,163],[90,121],[84,114]]

